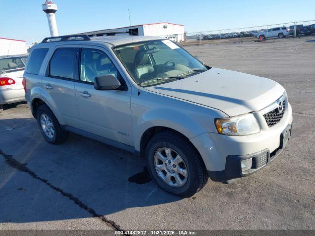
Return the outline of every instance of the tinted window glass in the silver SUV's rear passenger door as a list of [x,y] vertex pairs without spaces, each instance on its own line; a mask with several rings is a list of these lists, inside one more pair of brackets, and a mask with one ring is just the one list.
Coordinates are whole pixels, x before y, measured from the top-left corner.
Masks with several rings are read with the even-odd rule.
[[74,79],[76,48],[58,48],[49,63],[49,75]]

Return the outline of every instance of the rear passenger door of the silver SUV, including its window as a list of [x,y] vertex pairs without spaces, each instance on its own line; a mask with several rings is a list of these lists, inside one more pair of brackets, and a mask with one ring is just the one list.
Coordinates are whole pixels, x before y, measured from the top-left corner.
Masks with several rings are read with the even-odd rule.
[[47,93],[53,110],[56,109],[62,116],[64,125],[73,127],[80,124],[74,91],[78,78],[77,52],[75,45],[56,47],[48,62],[46,75],[42,78],[43,90]]

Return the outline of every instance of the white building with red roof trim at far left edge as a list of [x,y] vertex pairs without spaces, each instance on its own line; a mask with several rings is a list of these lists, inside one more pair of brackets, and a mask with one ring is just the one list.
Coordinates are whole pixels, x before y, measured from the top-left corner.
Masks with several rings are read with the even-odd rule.
[[0,56],[27,53],[24,40],[0,38]]

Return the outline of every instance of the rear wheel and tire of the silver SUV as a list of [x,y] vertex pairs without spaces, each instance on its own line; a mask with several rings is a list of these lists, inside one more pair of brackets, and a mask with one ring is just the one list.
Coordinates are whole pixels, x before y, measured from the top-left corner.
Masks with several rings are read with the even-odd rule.
[[62,144],[67,140],[69,132],[61,128],[57,118],[47,105],[41,105],[37,109],[36,118],[40,132],[48,143]]

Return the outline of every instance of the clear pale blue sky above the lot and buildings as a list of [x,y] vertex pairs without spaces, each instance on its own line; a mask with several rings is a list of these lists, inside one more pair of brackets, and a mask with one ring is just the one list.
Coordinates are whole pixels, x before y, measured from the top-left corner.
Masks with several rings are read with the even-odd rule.
[[[172,22],[185,31],[315,20],[315,0],[53,0],[60,35],[131,24]],[[0,37],[26,40],[49,36],[44,0],[0,0]],[[314,22],[313,22],[314,23]]]

